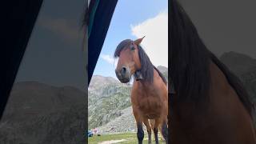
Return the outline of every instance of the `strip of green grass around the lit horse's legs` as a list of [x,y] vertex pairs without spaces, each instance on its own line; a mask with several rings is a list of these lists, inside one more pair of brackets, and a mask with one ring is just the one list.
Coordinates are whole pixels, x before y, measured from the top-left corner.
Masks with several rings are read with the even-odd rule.
[[[153,134],[152,134],[152,137]],[[137,134],[136,133],[123,133],[123,134],[102,134],[102,136],[94,136],[88,138],[89,144],[110,144],[110,143],[126,143],[126,144],[136,144],[138,143]],[[148,138],[147,134],[144,134],[143,143],[147,143]],[[154,138],[152,138],[152,143],[154,143]],[[159,143],[164,144],[165,142],[159,136]]]

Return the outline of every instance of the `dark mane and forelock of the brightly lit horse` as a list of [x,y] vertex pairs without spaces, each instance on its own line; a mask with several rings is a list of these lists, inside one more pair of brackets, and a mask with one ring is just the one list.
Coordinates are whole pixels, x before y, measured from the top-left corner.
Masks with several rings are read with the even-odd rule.
[[[114,58],[119,57],[121,51],[126,48],[126,46],[130,45],[133,42],[130,39],[123,40],[120,42],[114,51]],[[166,78],[162,75],[162,73],[152,64],[150,58],[146,54],[146,52],[142,49],[142,46],[138,45],[138,57],[141,62],[140,72],[142,74],[142,83],[152,83],[154,80],[154,69],[158,71],[158,74],[162,78],[162,81],[166,84]]]

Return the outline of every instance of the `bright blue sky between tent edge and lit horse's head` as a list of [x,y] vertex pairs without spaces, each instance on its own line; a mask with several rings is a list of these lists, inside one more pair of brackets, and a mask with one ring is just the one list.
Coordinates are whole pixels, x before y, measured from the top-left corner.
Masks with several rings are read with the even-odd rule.
[[[167,11],[167,0],[119,0],[114,10],[109,30],[98,58],[94,75],[115,78],[113,55],[119,42],[126,38],[136,39],[131,27]],[[116,60],[117,61],[117,60]]]

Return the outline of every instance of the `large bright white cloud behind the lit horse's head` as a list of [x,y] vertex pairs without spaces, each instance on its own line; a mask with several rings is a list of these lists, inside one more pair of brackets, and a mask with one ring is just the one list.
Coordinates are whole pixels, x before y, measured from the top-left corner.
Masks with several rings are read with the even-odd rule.
[[135,26],[131,25],[131,31],[137,38],[146,36],[142,41],[142,47],[155,66],[168,66],[167,10]]

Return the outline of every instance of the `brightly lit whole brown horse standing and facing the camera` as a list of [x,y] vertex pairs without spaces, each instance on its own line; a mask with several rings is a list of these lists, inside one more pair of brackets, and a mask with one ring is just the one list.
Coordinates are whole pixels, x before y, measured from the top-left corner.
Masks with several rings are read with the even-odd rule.
[[161,126],[162,135],[168,143],[167,114],[168,92],[166,79],[150,62],[145,51],[139,45],[143,38],[136,41],[126,39],[118,45],[114,57],[118,57],[118,66],[115,70],[120,82],[130,82],[134,75],[134,84],[131,90],[131,103],[134,118],[137,122],[138,143],[142,143],[144,131],[142,123],[148,132],[151,143],[151,127],[149,119],[154,119],[154,138],[158,143],[158,128]]

